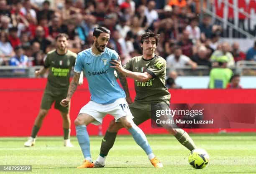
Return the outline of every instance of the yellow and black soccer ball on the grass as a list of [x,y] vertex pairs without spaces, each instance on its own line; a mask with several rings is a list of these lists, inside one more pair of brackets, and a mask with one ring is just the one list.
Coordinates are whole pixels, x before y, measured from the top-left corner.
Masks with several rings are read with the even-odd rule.
[[209,155],[204,149],[194,149],[189,154],[189,164],[195,169],[203,169],[209,162]]

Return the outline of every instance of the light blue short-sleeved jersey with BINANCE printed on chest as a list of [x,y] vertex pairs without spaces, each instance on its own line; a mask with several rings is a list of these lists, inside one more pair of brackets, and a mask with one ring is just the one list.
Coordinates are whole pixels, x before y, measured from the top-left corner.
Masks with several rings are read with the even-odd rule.
[[103,53],[95,55],[92,48],[83,50],[77,54],[74,71],[84,71],[89,84],[91,100],[100,104],[109,104],[118,98],[125,98],[125,92],[115,79],[114,68],[110,61],[118,60],[115,50],[105,48]]

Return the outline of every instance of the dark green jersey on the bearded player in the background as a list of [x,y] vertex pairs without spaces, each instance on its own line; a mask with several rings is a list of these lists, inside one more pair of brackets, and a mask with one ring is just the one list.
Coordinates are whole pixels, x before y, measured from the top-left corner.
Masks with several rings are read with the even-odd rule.
[[44,67],[49,68],[47,87],[53,89],[66,89],[69,87],[69,78],[77,54],[70,50],[59,55],[56,50],[47,53]]

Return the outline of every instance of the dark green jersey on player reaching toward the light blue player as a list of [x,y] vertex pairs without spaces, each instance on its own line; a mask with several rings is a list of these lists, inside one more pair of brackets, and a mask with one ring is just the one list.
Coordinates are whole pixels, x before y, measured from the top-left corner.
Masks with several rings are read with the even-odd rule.
[[146,60],[138,56],[128,61],[124,68],[133,72],[147,72],[153,77],[146,83],[134,81],[136,91],[134,101],[169,104],[171,95],[165,86],[166,61],[164,58],[155,55],[154,58]]

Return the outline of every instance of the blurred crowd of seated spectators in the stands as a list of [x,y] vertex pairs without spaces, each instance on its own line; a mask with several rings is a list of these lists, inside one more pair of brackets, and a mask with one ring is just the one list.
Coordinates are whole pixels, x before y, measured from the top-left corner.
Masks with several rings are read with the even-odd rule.
[[[142,54],[140,36],[147,30],[161,35],[156,54],[167,67],[215,67],[226,56],[227,67],[256,60],[256,42],[247,54],[238,43],[220,42],[222,28],[212,17],[199,14],[198,0],[0,0],[0,65],[38,66],[55,48],[58,33],[69,35],[69,50],[92,47],[92,31],[110,29],[108,47],[122,64]],[[202,23],[199,16],[203,15]],[[32,59],[30,59],[32,58]],[[218,66],[218,65],[217,65]]]

